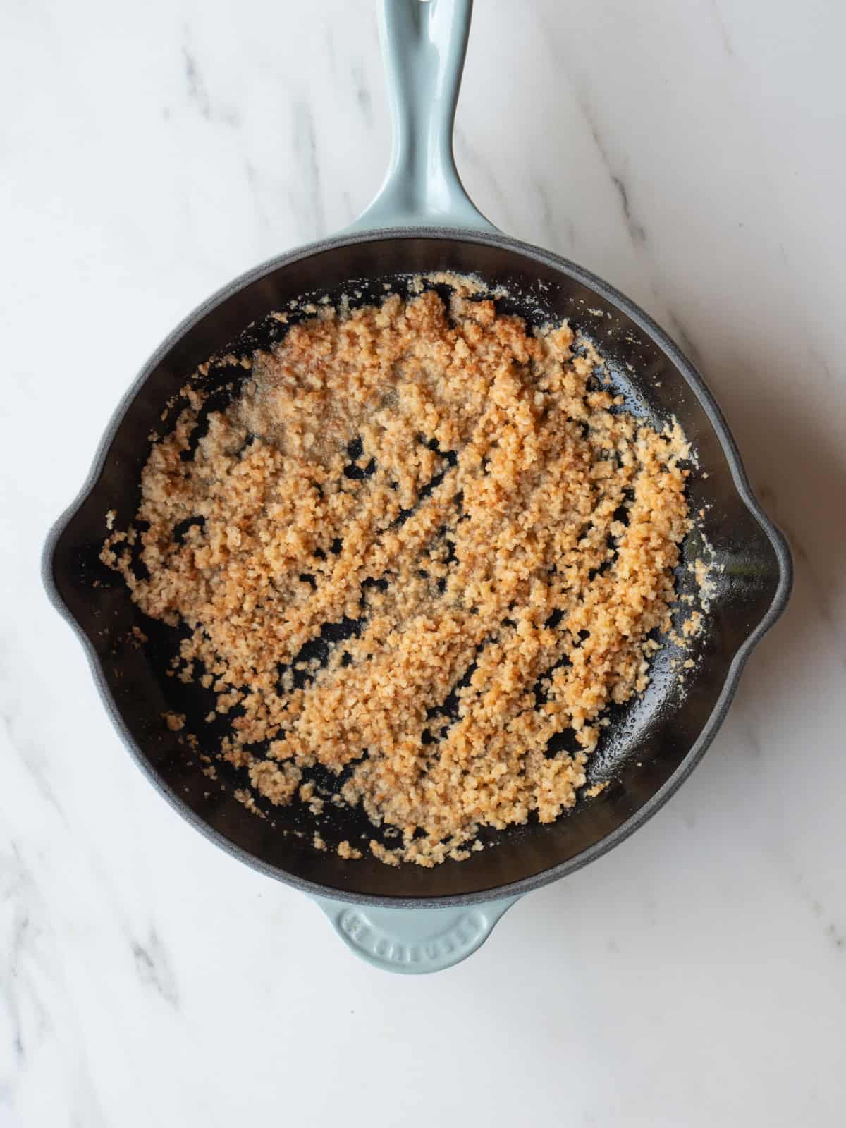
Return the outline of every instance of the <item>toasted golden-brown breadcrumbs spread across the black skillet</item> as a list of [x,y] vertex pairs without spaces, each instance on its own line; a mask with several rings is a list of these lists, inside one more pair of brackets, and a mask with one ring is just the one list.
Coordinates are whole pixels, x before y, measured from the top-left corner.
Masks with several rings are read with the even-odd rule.
[[[566,324],[434,291],[291,326],[199,442],[197,387],[102,558],[190,628],[182,677],[231,713],[204,750],[273,804],[323,765],[395,828],[388,864],[572,807],[670,625],[678,428],[623,411]],[[303,656],[327,624],[346,637]]]

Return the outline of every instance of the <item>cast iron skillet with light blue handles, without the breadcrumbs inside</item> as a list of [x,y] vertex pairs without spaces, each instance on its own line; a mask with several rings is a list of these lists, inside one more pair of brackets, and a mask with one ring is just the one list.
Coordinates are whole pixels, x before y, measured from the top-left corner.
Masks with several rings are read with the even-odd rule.
[[[44,554],[50,598],[81,637],[106,708],[160,793],[236,857],[311,893],[364,959],[399,971],[458,962],[517,897],[598,857],[653,814],[711,743],[743,663],[791,588],[784,537],[752,496],[734,441],[690,362],[623,294],[566,259],[500,235],[467,197],[451,134],[470,7],[472,0],[380,0],[394,150],[376,201],[341,236],[237,279],[164,342],[115,412],[88,481]],[[686,569],[708,546],[720,571],[707,629],[695,643],[695,669],[682,677],[663,640],[647,691],[614,714],[590,763],[590,781],[607,783],[597,799],[550,826],[492,832],[495,848],[460,864],[391,869],[367,852],[351,863],[312,847],[316,826],[329,846],[369,837],[372,828],[360,814],[327,804],[316,823],[294,805],[268,809],[272,825],[236,801],[235,776],[218,768],[219,778],[210,781],[202,773],[197,757],[162,729],[160,715],[186,713],[186,729],[203,732],[209,699],[165,676],[177,633],[138,610],[98,553],[106,511],[115,509],[120,525],[132,519],[148,435],[197,364],[227,347],[249,352],[271,344],[282,327],[266,315],[303,293],[352,293],[367,303],[384,297],[385,282],[402,292],[408,275],[433,271],[474,273],[492,288],[505,287],[513,297],[501,308],[532,324],[569,318],[608,358],[629,409],[658,423],[678,418],[698,455],[690,501],[704,510],[702,532],[684,546],[678,583],[691,590]],[[226,398],[223,382],[221,377],[217,405]],[[132,637],[133,626],[146,644]]]

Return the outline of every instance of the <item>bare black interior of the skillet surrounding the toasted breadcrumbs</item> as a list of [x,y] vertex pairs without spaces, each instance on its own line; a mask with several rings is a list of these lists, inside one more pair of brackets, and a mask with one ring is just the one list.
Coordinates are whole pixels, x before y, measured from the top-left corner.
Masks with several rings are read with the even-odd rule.
[[[474,853],[460,864],[393,869],[367,853],[351,863],[332,849],[318,852],[311,845],[315,829],[329,845],[344,838],[355,844],[371,837],[372,827],[361,814],[326,804],[326,813],[315,818],[294,804],[290,809],[267,808],[270,818],[263,820],[233,797],[236,787],[244,784],[233,769],[227,775],[218,766],[215,781],[202,773],[196,755],[160,720],[168,710],[185,713],[186,731],[212,739],[213,730],[202,720],[210,710],[206,693],[165,675],[178,633],[147,619],[130,600],[123,582],[100,564],[98,553],[106,511],[116,510],[121,526],[132,519],[140,470],[149,451],[148,437],[161,428],[162,406],[197,364],[232,343],[236,352],[270,344],[284,329],[279,321],[265,319],[266,315],[303,293],[326,293],[333,301],[346,293],[353,303],[367,303],[385,296],[386,281],[402,291],[409,274],[434,271],[475,273],[492,287],[505,287],[513,297],[501,300],[500,308],[517,311],[530,323],[569,318],[608,359],[615,384],[631,409],[658,421],[678,418],[698,455],[689,483],[690,502],[694,509],[704,510],[702,532],[721,571],[716,573],[707,629],[690,655],[695,668],[682,673],[678,653],[666,642],[643,698],[613,716],[590,765],[591,782],[608,782],[598,797],[580,802],[549,826],[530,822],[492,832],[486,838],[496,848]],[[329,243],[306,257],[289,256],[190,325],[150,371],[123,417],[116,420],[104,440],[102,473],[79,508],[63,519],[63,528],[60,522],[47,570],[60,600],[96,653],[95,670],[99,667],[106,702],[130,748],[162,792],[201,829],[210,829],[221,845],[240,848],[247,861],[294,884],[307,883],[308,888],[314,883],[342,896],[484,897],[497,887],[541,883],[553,870],[558,875],[575,867],[585,852],[593,853],[609,836],[618,837],[622,828],[636,821],[637,812],[643,812],[679,773],[686,758],[696,756],[707,743],[726,704],[723,690],[732,680],[730,667],[738,651],[785,598],[788,558],[776,535],[761,525],[739,493],[726,457],[731,439],[720,433],[719,416],[705,408],[688,382],[696,377],[688,372],[686,378],[681,367],[617,308],[618,296],[596,280],[591,280],[593,285],[587,284],[588,277],[553,256],[534,248],[514,249],[512,241],[490,237],[475,241],[452,236],[395,236]],[[245,331],[245,326],[250,327]],[[681,358],[676,359],[684,365]],[[231,371],[227,379],[231,379]],[[221,391],[217,403],[224,396]],[[707,550],[700,532],[688,537],[678,573],[682,590],[693,590],[687,565]],[[131,633],[133,626],[143,631],[148,643],[139,645]]]

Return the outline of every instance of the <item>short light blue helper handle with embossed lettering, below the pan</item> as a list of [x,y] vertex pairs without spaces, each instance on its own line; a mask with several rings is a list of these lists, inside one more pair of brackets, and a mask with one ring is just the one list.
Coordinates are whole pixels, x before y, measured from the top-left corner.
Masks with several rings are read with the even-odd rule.
[[519,896],[438,909],[386,909],[331,897],[315,900],[338,936],[362,960],[382,971],[425,975],[443,971],[472,955]]

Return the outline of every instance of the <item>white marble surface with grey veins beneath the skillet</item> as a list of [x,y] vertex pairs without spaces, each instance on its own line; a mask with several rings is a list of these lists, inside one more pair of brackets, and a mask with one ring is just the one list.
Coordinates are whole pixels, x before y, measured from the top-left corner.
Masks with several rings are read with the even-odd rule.
[[372,194],[371,5],[8,0],[2,1128],[844,1121],[844,9],[476,9],[469,190],[700,363],[792,537],[788,614],[702,766],[623,847],[442,976],[354,960],[156,795],[37,561],[168,329]]

